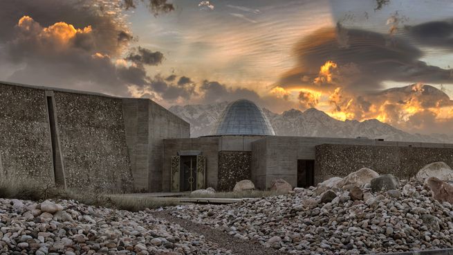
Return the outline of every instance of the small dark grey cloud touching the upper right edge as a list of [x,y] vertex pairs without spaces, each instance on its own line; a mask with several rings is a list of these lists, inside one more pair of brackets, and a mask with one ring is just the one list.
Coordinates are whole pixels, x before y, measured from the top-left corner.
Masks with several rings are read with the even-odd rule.
[[405,29],[420,44],[453,49],[453,20],[432,21],[416,26],[406,26]]

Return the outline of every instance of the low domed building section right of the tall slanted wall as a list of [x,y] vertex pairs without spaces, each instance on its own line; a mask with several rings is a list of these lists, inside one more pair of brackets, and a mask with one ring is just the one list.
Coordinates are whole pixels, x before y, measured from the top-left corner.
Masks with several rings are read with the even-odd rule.
[[406,178],[435,161],[453,166],[453,145],[279,137],[259,107],[238,100],[228,105],[210,136],[165,139],[163,161],[163,191],[205,186],[230,191],[241,179],[251,179],[260,189],[280,178],[306,187],[363,167]]

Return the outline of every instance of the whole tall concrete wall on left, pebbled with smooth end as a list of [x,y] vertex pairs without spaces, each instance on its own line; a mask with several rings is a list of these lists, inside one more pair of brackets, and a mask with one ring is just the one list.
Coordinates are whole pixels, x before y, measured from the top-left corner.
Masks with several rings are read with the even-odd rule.
[[0,179],[161,191],[163,139],[189,137],[188,123],[147,99],[9,82],[0,98]]

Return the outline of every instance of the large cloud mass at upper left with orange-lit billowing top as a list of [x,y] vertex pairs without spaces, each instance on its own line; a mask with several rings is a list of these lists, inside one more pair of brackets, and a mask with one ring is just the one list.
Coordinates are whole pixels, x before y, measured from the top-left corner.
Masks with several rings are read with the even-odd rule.
[[[129,49],[133,35],[119,8],[122,4],[1,1],[0,62],[10,68],[4,72],[9,73],[6,80],[116,96],[129,96],[127,86],[149,86],[153,78],[145,66],[160,64],[164,56],[140,46]],[[166,10],[165,1],[154,7],[159,5]]]

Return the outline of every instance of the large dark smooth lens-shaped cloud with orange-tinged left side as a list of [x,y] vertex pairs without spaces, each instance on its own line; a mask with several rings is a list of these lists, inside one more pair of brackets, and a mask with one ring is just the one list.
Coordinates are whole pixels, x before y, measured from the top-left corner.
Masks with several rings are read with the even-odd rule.
[[[405,40],[366,30],[341,26],[317,30],[295,46],[295,54],[298,64],[281,78],[281,87],[332,91],[341,86],[361,91],[380,89],[384,80],[429,83],[453,80],[452,70],[420,61],[422,51]],[[320,73],[320,67],[328,61],[336,64],[330,70],[330,80],[317,79],[326,75]],[[323,82],[316,82],[319,80]]]

